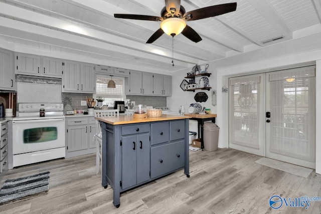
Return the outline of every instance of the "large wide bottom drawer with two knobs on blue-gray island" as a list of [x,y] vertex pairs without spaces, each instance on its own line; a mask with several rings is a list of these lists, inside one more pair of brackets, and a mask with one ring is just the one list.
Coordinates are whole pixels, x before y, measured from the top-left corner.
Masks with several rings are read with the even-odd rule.
[[165,175],[184,166],[184,140],[151,147],[150,178]]

